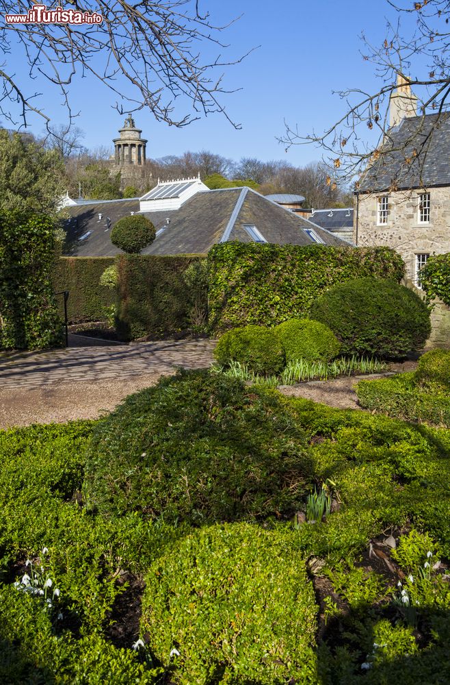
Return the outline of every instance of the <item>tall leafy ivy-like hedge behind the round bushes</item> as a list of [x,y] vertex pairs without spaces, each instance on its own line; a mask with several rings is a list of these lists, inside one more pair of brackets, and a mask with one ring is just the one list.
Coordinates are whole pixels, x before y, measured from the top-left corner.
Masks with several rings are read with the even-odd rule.
[[404,264],[389,247],[222,242],[208,255],[211,332],[307,316],[318,295],[348,279],[399,282]]

